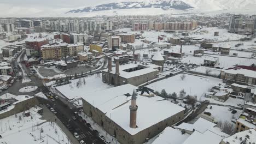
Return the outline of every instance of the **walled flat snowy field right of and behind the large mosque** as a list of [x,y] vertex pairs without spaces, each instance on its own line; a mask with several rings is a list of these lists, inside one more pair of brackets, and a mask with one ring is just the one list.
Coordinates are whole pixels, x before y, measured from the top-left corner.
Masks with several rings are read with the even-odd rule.
[[[165,89],[167,93],[177,93],[179,97],[179,92],[184,89],[187,94],[196,95],[197,100],[200,100],[201,96],[205,92],[208,92],[216,83],[222,82],[221,79],[216,79],[213,77],[200,77],[195,75],[184,74],[184,80],[181,80],[181,75],[179,74],[168,79],[164,79],[158,82],[154,82],[147,87],[154,89],[155,91],[161,92]],[[196,83],[196,85],[195,85]]]

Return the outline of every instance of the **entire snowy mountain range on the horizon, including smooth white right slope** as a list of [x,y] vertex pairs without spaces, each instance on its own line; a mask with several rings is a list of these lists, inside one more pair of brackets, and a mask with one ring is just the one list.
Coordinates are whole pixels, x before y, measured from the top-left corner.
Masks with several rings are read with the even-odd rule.
[[[114,1],[114,0],[112,0]],[[84,7],[80,9],[69,10],[67,13],[83,13],[92,11],[123,9],[145,9],[150,10],[199,10],[199,11],[216,11],[216,10],[236,10],[236,9],[254,9],[256,0],[115,0],[114,2],[96,5],[94,7]],[[152,9],[153,10],[153,9]],[[137,13],[133,10],[131,13]],[[66,14],[67,14],[66,13]]]

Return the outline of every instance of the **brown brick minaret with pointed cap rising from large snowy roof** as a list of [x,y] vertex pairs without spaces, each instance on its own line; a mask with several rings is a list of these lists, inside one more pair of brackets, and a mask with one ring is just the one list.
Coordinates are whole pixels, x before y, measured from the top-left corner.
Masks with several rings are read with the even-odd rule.
[[130,128],[137,128],[136,121],[137,121],[137,109],[138,106],[136,105],[137,93],[133,90],[132,98],[131,98],[131,105],[130,105]]

